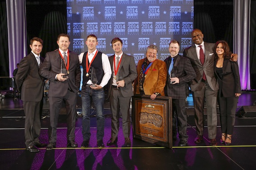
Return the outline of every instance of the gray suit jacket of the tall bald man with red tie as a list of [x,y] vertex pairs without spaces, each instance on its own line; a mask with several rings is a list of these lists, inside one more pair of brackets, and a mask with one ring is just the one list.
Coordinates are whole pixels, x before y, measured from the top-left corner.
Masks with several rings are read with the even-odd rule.
[[186,48],[183,51],[183,56],[188,57],[191,61],[191,64],[196,73],[196,78],[190,81],[190,88],[192,91],[196,91],[200,82],[203,78],[203,72],[205,73],[207,83],[211,87],[213,91],[219,89],[219,85],[214,77],[213,64],[214,64],[214,46],[215,43],[205,43],[204,42],[204,50],[205,50],[205,59],[204,64],[202,65],[200,60],[198,59],[196,53],[196,47],[193,44],[192,46]]

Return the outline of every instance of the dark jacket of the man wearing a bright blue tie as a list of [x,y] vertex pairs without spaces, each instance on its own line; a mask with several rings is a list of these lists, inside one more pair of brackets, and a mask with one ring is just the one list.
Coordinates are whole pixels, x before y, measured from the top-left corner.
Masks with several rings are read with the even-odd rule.
[[[170,76],[169,74],[167,74],[165,95],[171,96],[173,99],[186,99],[186,84],[189,81],[192,81],[196,77],[196,74],[191,65],[190,59],[182,57],[181,55],[177,55],[174,57],[175,62],[177,62],[178,58],[180,59],[177,63],[177,66],[173,67],[172,72],[175,74],[176,77],[179,78],[180,83],[174,85],[170,84]],[[164,62],[166,63],[168,70],[171,64],[171,56],[165,59]]]

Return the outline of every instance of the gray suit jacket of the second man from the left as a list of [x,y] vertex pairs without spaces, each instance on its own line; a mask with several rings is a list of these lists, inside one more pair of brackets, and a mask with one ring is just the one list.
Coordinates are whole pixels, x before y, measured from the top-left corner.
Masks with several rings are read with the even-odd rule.
[[[55,76],[60,73],[62,57],[59,51],[50,51],[45,55],[44,63],[40,67],[40,75],[49,79],[49,97],[63,97],[70,88],[73,92],[77,92],[81,81],[81,70],[79,66],[78,55],[70,51],[69,56],[69,74],[66,81],[58,81]],[[65,65],[63,64],[63,67]]]

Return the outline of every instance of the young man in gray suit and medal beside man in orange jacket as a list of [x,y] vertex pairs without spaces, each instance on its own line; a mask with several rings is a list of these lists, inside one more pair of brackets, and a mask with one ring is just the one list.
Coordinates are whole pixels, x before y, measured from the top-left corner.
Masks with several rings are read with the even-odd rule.
[[137,77],[134,57],[124,54],[123,42],[120,38],[111,41],[115,55],[109,57],[112,76],[109,83],[108,97],[110,98],[111,138],[107,145],[116,144],[119,131],[119,110],[122,112],[124,146],[130,147],[130,102],[132,93],[132,82]]

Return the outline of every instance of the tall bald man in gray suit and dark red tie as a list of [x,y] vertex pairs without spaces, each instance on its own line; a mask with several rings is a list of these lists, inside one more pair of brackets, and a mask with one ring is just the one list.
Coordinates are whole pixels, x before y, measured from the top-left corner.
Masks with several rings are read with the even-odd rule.
[[[203,42],[203,33],[194,29],[191,33],[194,44],[183,51],[183,56],[188,57],[196,73],[196,78],[190,81],[194,101],[194,119],[197,137],[195,143],[203,140],[203,108],[204,98],[207,107],[207,127],[210,144],[215,146],[217,127],[217,92],[219,85],[214,77],[214,46],[215,43]],[[232,58],[237,60],[237,55]]]

